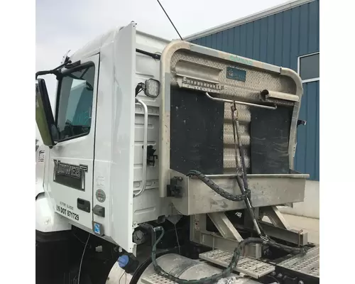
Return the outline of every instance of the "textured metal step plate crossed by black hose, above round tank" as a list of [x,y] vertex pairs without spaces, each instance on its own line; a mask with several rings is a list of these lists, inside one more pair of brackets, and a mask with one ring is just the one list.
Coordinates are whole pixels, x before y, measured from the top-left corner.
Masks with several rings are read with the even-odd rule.
[[[200,253],[201,259],[224,267],[229,265],[232,256],[233,253],[230,253],[229,251],[221,251],[219,249],[207,251],[207,253]],[[234,268],[234,271],[238,271],[239,273],[244,273],[252,278],[258,279],[263,275],[275,271],[275,266],[253,258],[241,257],[239,258],[238,265]]]

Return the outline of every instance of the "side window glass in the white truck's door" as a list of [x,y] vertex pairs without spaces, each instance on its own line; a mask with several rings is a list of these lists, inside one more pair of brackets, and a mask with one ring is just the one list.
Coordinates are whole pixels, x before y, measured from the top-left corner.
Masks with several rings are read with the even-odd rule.
[[59,141],[89,133],[94,93],[94,65],[63,72],[59,82],[56,123]]

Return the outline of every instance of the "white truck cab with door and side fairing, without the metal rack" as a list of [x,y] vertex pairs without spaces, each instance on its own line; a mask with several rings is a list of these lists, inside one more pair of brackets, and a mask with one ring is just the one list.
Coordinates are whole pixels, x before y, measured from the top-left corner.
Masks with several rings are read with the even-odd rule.
[[[44,176],[43,190],[68,223],[130,252],[135,224],[168,214],[159,198],[158,163],[144,169],[145,185],[142,177],[144,111],[149,113],[146,135],[158,151],[160,99],[143,92],[135,96],[139,82],[155,87],[160,76],[160,62],[136,49],[159,55],[167,44],[137,33],[131,23],[78,50],[58,77],[57,130],[55,145],[46,153],[50,175]],[[146,194],[133,202],[143,186]]]

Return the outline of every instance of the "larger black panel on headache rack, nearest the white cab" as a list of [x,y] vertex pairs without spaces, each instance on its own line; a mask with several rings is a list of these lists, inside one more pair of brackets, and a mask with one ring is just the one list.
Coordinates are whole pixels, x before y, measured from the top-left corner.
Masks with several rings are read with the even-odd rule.
[[170,168],[180,173],[223,173],[224,104],[204,93],[171,88]]

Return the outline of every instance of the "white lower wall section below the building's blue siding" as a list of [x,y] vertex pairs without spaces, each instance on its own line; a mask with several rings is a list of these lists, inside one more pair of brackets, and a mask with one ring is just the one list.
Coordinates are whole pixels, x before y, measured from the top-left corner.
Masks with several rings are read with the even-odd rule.
[[320,219],[320,182],[307,180],[305,201],[297,202],[291,207],[280,207],[280,212]]

